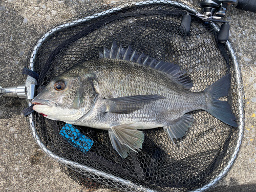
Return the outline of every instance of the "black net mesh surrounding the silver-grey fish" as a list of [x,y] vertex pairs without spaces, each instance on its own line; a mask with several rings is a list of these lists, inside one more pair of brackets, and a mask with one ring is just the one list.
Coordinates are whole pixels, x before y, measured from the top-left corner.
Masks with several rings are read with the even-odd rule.
[[[129,1],[126,1],[126,3]],[[130,5],[133,5],[130,2]],[[157,60],[173,62],[185,69],[193,80],[191,91],[199,92],[227,72],[232,74],[227,100],[233,114],[239,111],[234,64],[224,44],[216,39],[216,31],[197,18],[192,18],[190,33],[181,26],[186,10],[170,5],[127,6],[122,11],[108,10],[124,3],[115,3],[80,14],[63,23],[61,30],[42,42],[35,60],[35,72],[40,75],[36,94],[48,82],[77,62],[98,59],[98,50],[110,49],[113,40],[138,53],[144,52]],[[98,14],[95,14],[98,13]],[[76,19],[96,15],[77,25]],[[99,17],[97,17],[99,16]],[[32,54],[32,52],[31,52]],[[28,66],[30,63],[28,60]],[[241,101],[243,102],[243,101]],[[144,130],[143,148],[122,159],[111,145],[107,131],[90,127],[65,125],[34,113],[39,139],[54,154],[100,173],[157,191],[189,191],[202,187],[216,178],[228,164],[237,144],[239,130],[228,126],[205,111],[190,112],[195,122],[183,138],[173,145],[162,128]],[[76,166],[63,164],[61,169],[86,188],[137,190],[129,185]]]

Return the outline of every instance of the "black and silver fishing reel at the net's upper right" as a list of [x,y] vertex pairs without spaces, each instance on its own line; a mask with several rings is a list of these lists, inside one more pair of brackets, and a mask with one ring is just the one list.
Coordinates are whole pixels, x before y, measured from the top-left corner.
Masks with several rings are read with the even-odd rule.
[[223,23],[217,36],[218,41],[225,42],[229,37],[229,24],[225,20],[220,20],[226,15],[227,9],[235,7],[244,11],[256,12],[256,1],[251,0],[198,0],[202,14],[187,13],[183,15],[182,23],[186,33],[190,31],[191,16],[200,18],[206,24],[210,22]]

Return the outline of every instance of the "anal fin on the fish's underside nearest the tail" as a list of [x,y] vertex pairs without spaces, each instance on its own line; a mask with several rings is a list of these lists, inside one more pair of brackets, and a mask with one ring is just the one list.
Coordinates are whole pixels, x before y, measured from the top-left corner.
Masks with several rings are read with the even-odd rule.
[[181,118],[174,121],[172,125],[165,126],[163,127],[163,129],[168,134],[170,140],[172,140],[172,142],[174,143],[173,139],[183,137],[193,122],[194,117],[192,115],[184,115]]

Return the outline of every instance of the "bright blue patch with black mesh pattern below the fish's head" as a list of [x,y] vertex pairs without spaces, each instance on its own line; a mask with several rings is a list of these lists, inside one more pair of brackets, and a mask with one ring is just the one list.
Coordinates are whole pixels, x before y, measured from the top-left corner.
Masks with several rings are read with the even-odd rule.
[[[83,153],[88,152],[93,146],[93,140],[81,134],[72,124],[65,124],[59,134],[65,137],[74,147],[79,148]],[[75,145],[73,143],[75,143]]]

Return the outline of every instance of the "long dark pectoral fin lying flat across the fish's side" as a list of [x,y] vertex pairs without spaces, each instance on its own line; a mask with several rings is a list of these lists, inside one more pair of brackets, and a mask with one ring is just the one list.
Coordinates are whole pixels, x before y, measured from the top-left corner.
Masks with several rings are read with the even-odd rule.
[[136,95],[106,99],[108,103],[106,112],[129,114],[141,109],[148,102],[163,98],[165,97],[161,95]]

